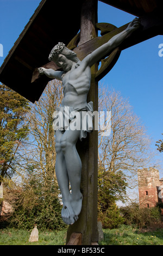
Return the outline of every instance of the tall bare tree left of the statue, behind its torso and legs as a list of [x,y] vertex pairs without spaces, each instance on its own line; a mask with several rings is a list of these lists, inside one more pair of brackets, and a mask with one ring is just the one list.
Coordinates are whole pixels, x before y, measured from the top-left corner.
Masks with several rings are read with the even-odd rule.
[[45,183],[55,176],[56,153],[52,115],[61,100],[62,85],[59,81],[53,80],[48,83],[40,100],[35,104],[31,103],[31,111],[28,114],[30,137],[24,148],[24,161],[20,168],[32,167]]

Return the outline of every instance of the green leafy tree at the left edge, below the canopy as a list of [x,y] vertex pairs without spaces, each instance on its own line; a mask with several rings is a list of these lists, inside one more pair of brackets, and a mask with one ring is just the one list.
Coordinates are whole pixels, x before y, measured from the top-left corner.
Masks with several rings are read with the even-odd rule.
[[0,182],[11,178],[18,162],[18,150],[27,139],[28,125],[24,117],[29,103],[7,86],[0,85]]

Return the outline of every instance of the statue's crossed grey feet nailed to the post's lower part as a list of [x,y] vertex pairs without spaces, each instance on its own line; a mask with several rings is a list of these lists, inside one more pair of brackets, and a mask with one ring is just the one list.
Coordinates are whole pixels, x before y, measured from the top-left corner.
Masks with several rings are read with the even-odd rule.
[[70,200],[64,202],[61,210],[61,217],[66,224],[72,225],[78,220],[78,215],[82,209],[82,200],[83,196],[82,193],[80,193],[76,198],[73,198],[71,195]]

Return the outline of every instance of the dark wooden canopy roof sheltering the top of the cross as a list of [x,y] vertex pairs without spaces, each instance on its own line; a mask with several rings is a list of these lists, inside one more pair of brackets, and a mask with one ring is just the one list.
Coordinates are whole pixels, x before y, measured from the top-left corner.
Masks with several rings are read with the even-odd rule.
[[[26,97],[39,100],[49,78],[31,82],[33,71],[48,63],[49,52],[59,41],[68,44],[80,29],[83,0],[42,0],[0,68],[0,81]],[[104,0],[135,16],[160,8],[159,0]],[[75,11],[74,11],[75,7]]]

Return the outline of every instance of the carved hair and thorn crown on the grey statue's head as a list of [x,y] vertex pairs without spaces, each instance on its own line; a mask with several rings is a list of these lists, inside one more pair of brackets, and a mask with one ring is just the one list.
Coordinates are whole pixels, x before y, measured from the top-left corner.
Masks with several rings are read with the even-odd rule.
[[66,58],[72,60],[72,62],[80,62],[80,60],[77,58],[77,54],[70,49],[68,49],[65,44],[62,42],[59,42],[58,45],[55,45],[49,54],[49,60],[57,62],[59,54],[63,54]]

